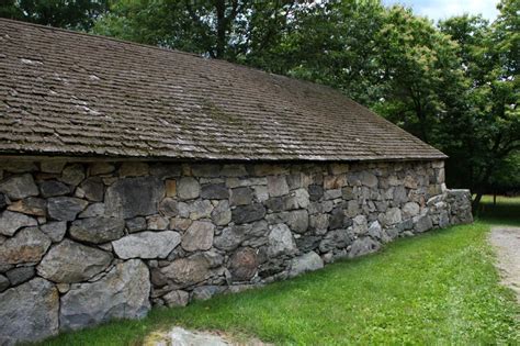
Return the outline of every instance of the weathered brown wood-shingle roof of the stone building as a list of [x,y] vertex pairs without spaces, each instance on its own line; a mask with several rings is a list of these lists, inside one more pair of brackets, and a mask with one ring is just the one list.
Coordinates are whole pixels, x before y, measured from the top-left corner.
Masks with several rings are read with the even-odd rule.
[[0,155],[442,159],[328,87],[0,20]]

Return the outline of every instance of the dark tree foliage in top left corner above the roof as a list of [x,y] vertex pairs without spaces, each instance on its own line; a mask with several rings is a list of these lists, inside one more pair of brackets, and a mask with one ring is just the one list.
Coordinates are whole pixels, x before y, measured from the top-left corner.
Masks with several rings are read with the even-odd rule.
[[108,10],[108,0],[4,0],[0,16],[88,31]]

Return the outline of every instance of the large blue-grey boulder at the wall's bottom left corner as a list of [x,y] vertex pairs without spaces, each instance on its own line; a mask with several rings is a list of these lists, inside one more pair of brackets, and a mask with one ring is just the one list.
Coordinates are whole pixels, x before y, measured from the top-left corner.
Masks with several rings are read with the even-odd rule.
[[37,342],[58,332],[58,291],[35,278],[0,294],[0,344]]

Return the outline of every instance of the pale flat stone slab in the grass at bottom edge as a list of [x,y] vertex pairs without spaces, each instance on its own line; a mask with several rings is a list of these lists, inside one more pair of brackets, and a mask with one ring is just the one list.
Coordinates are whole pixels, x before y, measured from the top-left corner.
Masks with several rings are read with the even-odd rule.
[[229,345],[251,345],[268,346],[259,339],[247,342],[236,342],[218,332],[188,331],[174,326],[169,332],[155,332],[148,335],[143,343],[145,346],[229,346]]

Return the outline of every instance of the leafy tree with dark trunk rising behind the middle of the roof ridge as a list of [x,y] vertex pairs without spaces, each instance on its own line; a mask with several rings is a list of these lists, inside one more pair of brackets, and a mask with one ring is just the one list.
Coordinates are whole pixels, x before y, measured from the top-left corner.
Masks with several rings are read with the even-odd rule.
[[139,43],[248,63],[284,33],[296,1],[122,0],[94,32]]

